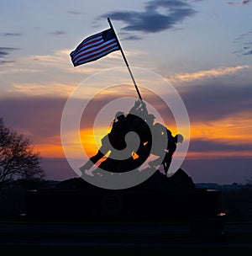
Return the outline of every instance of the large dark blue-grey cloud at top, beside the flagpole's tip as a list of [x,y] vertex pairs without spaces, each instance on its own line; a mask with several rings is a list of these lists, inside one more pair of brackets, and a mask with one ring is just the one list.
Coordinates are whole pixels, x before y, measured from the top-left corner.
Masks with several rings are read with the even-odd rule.
[[[156,33],[166,29],[174,29],[184,19],[192,17],[196,11],[189,1],[155,0],[145,4],[144,11],[113,11],[102,14],[100,18],[110,17],[126,24],[124,31],[140,31]],[[133,38],[131,38],[132,40]],[[139,40],[139,38],[136,38]]]

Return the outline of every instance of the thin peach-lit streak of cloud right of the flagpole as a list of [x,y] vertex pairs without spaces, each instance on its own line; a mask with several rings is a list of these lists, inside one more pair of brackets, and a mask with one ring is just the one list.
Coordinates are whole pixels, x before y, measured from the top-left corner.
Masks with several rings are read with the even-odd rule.
[[249,68],[249,66],[241,65],[237,67],[219,67],[219,68],[213,68],[210,70],[200,70],[200,71],[191,72],[191,73],[186,72],[181,74],[175,74],[171,77],[167,77],[167,79],[171,82],[177,82],[177,81],[191,82],[194,80],[202,80],[206,78],[231,75],[236,72],[239,72],[240,70],[243,70],[244,68]]

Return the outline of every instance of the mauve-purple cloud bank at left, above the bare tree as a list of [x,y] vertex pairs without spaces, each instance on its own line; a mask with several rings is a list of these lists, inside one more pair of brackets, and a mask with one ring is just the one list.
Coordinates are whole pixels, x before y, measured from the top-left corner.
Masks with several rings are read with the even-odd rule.
[[0,101],[0,116],[6,125],[40,143],[45,137],[60,135],[65,103],[60,98],[5,98]]

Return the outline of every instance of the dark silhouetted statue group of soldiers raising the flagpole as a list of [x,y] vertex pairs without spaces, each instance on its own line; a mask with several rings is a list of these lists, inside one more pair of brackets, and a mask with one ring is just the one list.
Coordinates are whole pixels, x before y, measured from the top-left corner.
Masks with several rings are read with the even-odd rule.
[[[183,141],[183,136],[172,136],[165,125],[154,124],[154,121],[155,115],[148,113],[146,104],[140,99],[135,101],[128,115],[118,111],[111,131],[102,138],[102,147],[80,168],[81,172],[93,175],[90,172],[92,166],[110,152],[99,168],[115,173],[128,172],[139,168],[152,153],[159,158],[150,162],[150,167],[163,164],[167,173],[176,144]],[[135,137],[128,137],[126,141],[126,136],[131,131],[138,135],[137,148],[134,148]],[[118,157],[119,152],[122,152],[123,157]]]

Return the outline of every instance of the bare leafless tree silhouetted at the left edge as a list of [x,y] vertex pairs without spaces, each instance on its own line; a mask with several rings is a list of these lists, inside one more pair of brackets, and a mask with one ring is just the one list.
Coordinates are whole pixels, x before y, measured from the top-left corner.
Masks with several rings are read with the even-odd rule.
[[44,179],[40,160],[30,139],[6,127],[0,118],[0,187],[15,179]]

